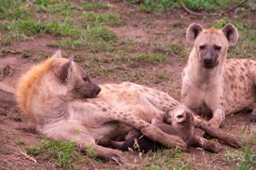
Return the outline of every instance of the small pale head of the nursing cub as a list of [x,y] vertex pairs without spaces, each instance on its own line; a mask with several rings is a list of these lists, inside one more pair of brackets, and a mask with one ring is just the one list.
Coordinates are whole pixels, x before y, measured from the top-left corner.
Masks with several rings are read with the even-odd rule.
[[187,107],[181,105],[166,114],[166,122],[172,126],[193,124],[193,113]]

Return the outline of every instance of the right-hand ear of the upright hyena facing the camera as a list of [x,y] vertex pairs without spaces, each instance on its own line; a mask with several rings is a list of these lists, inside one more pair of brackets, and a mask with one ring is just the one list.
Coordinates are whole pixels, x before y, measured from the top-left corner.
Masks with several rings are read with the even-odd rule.
[[222,28],[222,32],[228,39],[228,43],[230,45],[236,44],[238,40],[238,32],[237,29],[232,24],[226,24],[226,26]]

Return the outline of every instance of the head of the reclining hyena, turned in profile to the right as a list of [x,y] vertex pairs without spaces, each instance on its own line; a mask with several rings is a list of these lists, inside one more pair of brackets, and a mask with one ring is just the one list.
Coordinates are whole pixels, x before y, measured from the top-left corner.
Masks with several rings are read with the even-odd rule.
[[57,60],[59,58],[60,61],[55,66],[55,76],[59,79],[59,83],[68,88],[69,95],[76,99],[96,97],[100,93],[100,87],[90,80],[82,67],[73,62],[73,56],[70,56],[69,59],[61,58],[58,53],[60,51],[55,52],[52,56]]

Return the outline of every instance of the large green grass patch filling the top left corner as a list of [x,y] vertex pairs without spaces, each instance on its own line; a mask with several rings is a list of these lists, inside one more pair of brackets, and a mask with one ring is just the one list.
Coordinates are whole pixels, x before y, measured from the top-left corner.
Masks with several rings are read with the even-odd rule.
[[[0,42],[30,40],[33,36],[54,36],[49,46],[92,52],[113,51],[117,36],[104,25],[121,26],[124,22],[114,13],[86,12],[105,10],[107,5],[90,1],[34,0],[1,1]],[[44,16],[44,17],[42,17]],[[40,19],[38,19],[40,18]]]

